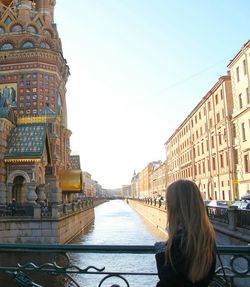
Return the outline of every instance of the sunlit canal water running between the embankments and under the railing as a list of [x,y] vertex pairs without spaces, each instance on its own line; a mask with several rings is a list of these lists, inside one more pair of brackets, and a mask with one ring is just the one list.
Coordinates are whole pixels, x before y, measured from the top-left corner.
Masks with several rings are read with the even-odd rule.
[[[122,200],[112,200],[95,208],[95,220],[76,238],[73,244],[97,245],[153,245],[165,240],[165,235],[152,227]],[[72,263],[85,268],[104,267],[110,272],[156,272],[153,254],[74,254]],[[98,286],[103,275],[79,275],[74,277],[80,286]],[[156,286],[157,276],[126,276],[131,287]],[[126,284],[119,278],[110,278],[101,285]]]

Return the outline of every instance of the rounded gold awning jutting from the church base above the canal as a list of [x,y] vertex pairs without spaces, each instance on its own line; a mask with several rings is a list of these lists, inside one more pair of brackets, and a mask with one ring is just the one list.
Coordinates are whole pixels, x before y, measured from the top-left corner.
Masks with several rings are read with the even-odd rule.
[[62,172],[60,175],[60,187],[62,192],[82,192],[82,171],[78,169],[68,169]]

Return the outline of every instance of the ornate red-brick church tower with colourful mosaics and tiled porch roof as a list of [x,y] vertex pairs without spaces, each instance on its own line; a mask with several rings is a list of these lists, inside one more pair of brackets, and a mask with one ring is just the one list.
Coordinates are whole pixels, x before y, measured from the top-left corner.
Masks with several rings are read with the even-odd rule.
[[[60,177],[71,169],[69,67],[54,23],[55,4],[0,0],[1,204],[13,198],[20,205],[63,200]],[[81,171],[75,176],[80,182]]]

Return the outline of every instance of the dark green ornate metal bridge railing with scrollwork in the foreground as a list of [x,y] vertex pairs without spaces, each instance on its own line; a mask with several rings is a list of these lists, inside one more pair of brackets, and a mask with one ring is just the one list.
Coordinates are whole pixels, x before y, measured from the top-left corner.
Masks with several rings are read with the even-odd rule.
[[[234,279],[237,280],[249,280],[250,279],[250,264],[249,264],[249,254],[250,254],[250,245],[238,246],[238,245],[218,245],[217,250],[220,256],[223,258],[223,268],[225,270],[228,280],[231,282],[231,286],[234,285]],[[103,283],[107,282],[110,278],[116,280],[122,280],[125,286],[131,286],[126,278],[126,276],[156,276],[155,271],[150,272],[136,272],[130,270],[121,270],[121,271],[109,271],[105,267],[95,267],[87,266],[80,267],[76,266],[74,262],[71,262],[68,254],[71,253],[97,253],[97,254],[154,254],[155,248],[153,245],[80,245],[80,244],[0,244],[0,253],[19,253],[23,252],[24,254],[30,253],[32,257],[29,257],[33,260],[37,259],[36,253],[46,253],[46,263],[34,263],[34,262],[25,262],[20,264],[20,262],[14,262],[12,265],[3,266],[3,263],[0,264],[0,273],[7,274],[13,280],[18,282],[18,286],[24,287],[45,287],[37,284],[36,277],[35,279],[31,278],[37,273],[43,274],[43,276],[63,276],[71,285],[75,287],[81,287],[76,281],[74,275],[102,275],[103,278],[99,282],[98,287],[102,287]],[[34,253],[34,256],[33,254]],[[228,258],[228,255],[231,255],[231,258]],[[17,258],[20,258],[17,257]],[[39,258],[39,257],[38,257]],[[98,257],[99,258],[99,257]],[[27,259],[26,259],[27,260]],[[102,264],[102,257],[98,259],[98,264]],[[241,260],[242,266],[239,268],[239,262]],[[35,260],[37,261],[37,260]],[[100,262],[99,262],[100,261]],[[247,264],[246,264],[247,263]],[[39,265],[40,264],[40,265]],[[247,266],[247,267],[245,267]],[[27,275],[29,274],[29,275]],[[212,286],[224,286],[221,285],[220,278],[223,279],[223,272],[221,266],[217,266],[216,277],[214,280],[214,285]],[[68,286],[68,285],[67,285]],[[84,285],[83,285],[84,286]],[[93,285],[94,286],[94,285]],[[107,286],[107,285],[105,285]],[[111,287],[118,287],[120,285],[113,284]],[[122,285],[124,286],[124,285]],[[247,285],[241,285],[247,286]]]

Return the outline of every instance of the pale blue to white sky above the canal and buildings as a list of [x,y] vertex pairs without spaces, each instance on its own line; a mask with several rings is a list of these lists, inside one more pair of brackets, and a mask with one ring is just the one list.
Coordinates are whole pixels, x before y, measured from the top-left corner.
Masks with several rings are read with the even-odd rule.
[[58,0],[72,154],[103,188],[164,143],[250,39],[249,0]]

